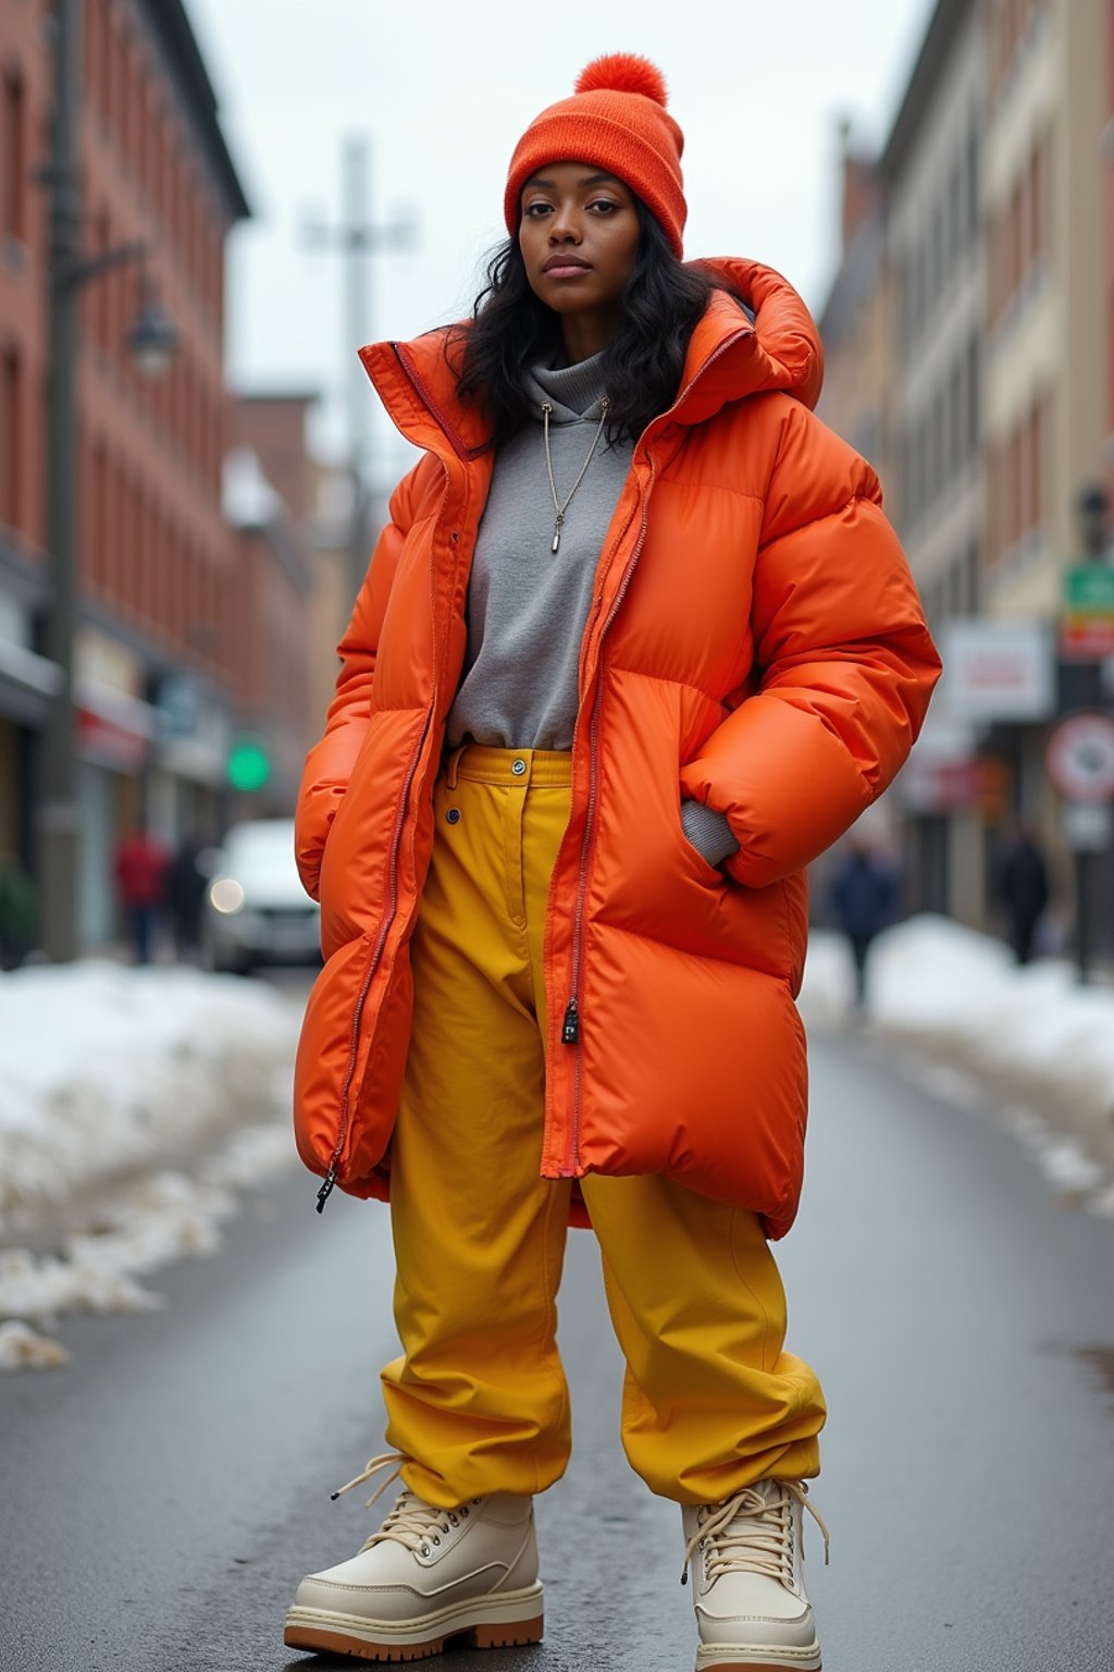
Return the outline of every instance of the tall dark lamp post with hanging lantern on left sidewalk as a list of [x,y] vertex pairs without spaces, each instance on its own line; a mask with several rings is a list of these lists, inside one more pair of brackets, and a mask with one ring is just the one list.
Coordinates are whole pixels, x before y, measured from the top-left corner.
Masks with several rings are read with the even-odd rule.
[[[75,543],[75,368],[77,298],[90,279],[145,252],[144,244],[125,244],[97,256],[80,257],[80,0],[55,0],[55,109],[50,164],[45,181],[50,192],[50,380],[47,390],[47,548],[48,610],[43,650],[60,670],[58,691],[50,704],[43,734],[42,789],[38,799],[38,853],[42,883],[42,945],[53,961],[77,955],[77,869],[80,851],[77,781],[77,709],[73,702],[73,629],[77,622]],[[130,334],[137,358],[157,346],[160,363],[174,349],[174,333],[162,318],[152,318],[154,303],[140,314]],[[139,341],[137,341],[139,338]],[[142,364],[142,359],[140,359]]]

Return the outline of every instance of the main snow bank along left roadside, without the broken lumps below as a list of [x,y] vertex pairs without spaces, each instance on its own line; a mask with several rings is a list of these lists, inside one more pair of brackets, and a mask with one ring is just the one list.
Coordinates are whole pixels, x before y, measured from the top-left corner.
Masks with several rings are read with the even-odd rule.
[[297,1017],[272,988],[107,961],[0,976],[0,1242],[274,1110]]

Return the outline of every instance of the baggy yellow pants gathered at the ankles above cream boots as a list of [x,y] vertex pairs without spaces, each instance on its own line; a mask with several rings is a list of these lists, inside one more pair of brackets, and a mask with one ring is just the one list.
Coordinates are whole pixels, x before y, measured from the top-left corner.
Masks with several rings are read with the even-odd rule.
[[[568,784],[565,754],[469,747],[436,786],[391,1152],[404,1356],[382,1384],[404,1480],[443,1506],[541,1491],[570,1455],[554,1297],[571,1184],[539,1177],[541,955]],[[815,1475],[823,1396],[782,1351],[785,1292],[755,1216],[665,1177],[581,1189],[626,1358],[623,1446],[646,1485],[715,1503]]]

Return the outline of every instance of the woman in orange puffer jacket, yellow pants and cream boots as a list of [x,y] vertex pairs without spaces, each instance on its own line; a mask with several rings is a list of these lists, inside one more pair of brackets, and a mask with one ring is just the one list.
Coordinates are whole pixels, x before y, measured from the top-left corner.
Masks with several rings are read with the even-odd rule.
[[626,1455],[681,1505],[698,1665],[820,1665],[825,1408],[767,1246],[802,1179],[803,866],[897,772],[937,659],[873,472],[812,416],[803,304],[680,263],[681,145],[653,65],[598,60],[514,150],[474,321],[364,349],[426,451],[302,784],[327,963],[296,1099],[321,1202],[389,1187],[404,1354],[359,1480],[406,1490],[302,1582],[294,1647],[539,1639],[571,1221]]

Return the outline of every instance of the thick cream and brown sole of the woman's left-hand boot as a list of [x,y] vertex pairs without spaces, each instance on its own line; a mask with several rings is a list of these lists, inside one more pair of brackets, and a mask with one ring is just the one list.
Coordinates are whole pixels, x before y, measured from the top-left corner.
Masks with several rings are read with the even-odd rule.
[[539,1644],[541,1634],[541,1585],[538,1585],[516,1597],[473,1598],[404,1624],[294,1607],[286,1617],[282,1642],[287,1649],[397,1662],[426,1660],[429,1655],[444,1654],[448,1644],[454,1649],[513,1649]]

